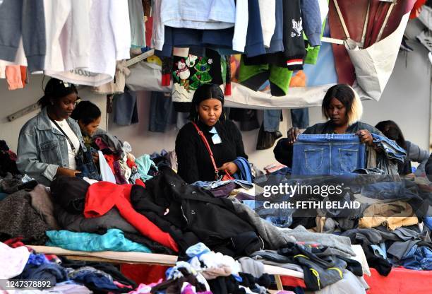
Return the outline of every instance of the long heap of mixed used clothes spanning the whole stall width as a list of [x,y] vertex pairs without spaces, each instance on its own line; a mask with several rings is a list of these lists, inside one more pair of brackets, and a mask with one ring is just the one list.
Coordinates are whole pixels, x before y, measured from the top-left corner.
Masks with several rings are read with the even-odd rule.
[[[369,273],[368,266],[384,275],[397,265],[429,269],[430,192],[417,179],[395,181],[394,176],[366,170],[369,174],[342,179],[291,179],[280,174],[256,180],[260,186],[323,186],[337,180],[344,184],[339,196],[282,196],[290,201],[318,197],[361,202],[356,209],[278,209],[277,214],[266,211],[256,196],[263,188],[247,181],[186,184],[169,167],[174,155],[168,154],[162,151],[135,160],[137,167],[155,170],[148,177],[140,175],[135,184],[130,179],[119,184],[56,177],[44,187],[12,175],[1,178],[7,195],[0,201],[0,241],[20,237],[25,244],[71,250],[175,254],[179,264],[167,272],[165,281],[138,288],[181,293],[264,293],[274,286],[262,271],[248,270],[248,264],[254,270],[270,264],[298,271],[304,278],[284,281],[294,293],[365,293],[363,274]],[[423,221],[426,225],[419,226]],[[361,245],[367,261],[356,257],[352,244]],[[73,279],[70,271],[66,274],[57,282]]]

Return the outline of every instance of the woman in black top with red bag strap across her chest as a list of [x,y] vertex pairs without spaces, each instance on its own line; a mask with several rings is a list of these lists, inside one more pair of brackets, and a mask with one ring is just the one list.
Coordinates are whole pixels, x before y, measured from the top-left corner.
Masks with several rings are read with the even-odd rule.
[[189,119],[176,138],[176,155],[180,177],[188,183],[214,181],[217,174],[203,138],[202,131],[215,158],[220,175],[233,175],[239,167],[232,161],[248,158],[244,153],[241,134],[234,122],[226,119],[224,94],[215,84],[204,84],[193,94]]

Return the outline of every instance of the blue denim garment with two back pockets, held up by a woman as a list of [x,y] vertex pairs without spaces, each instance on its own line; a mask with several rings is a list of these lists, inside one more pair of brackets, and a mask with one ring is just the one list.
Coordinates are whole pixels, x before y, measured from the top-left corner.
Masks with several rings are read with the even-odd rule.
[[366,148],[355,134],[299,135],[292,175],[342,175],[366,164]]

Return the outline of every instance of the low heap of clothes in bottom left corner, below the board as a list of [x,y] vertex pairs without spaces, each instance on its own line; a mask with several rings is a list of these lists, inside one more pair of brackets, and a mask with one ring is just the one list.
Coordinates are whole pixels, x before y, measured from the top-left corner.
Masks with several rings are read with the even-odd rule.
[[41,282],[32,285],[31,292],[23,293],[47,293],[47,288],[49,293],[128,293],[137,287],[112,264],[38,254],[20,240],[0,242],[0,278]]

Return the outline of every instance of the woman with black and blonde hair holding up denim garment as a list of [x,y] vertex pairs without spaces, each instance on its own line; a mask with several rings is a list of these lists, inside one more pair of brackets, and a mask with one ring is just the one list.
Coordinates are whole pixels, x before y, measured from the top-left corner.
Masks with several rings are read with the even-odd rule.
[[[345,84],[332,86],[325,93],[322,110],[328,121],[308,127],[303,134],[356,134],[361,143],[368,146],[366,167],[378,167],[390,175],[397,175],[397,160],[394,155],[403,162],[406,153],[375,127],[359,122],[363,106],[353,88]],[[273,150],[277,161],[292,166],[292,146],[299,134],[298,128],[291,128],[287,138],[277,142]]]

